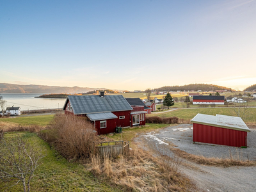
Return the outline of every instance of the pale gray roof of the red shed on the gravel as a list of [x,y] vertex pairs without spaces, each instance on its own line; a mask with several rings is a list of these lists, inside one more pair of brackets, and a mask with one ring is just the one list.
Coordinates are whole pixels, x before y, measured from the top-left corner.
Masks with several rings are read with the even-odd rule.
[[198,113],[192,120],[192,123],[211,125],[226,129],[250,132],[250,129],[244,124],[241,117],[227,115],[205,115]]

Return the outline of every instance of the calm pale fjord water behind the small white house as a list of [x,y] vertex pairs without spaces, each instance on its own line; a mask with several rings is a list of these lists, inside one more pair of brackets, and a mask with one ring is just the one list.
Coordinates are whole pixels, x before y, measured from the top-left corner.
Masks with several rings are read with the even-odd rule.
[[35,109],[63,108],[66,99],[35,98],[44,93],[0,93],[6,100],[6,107],[20,107],[21,111]]

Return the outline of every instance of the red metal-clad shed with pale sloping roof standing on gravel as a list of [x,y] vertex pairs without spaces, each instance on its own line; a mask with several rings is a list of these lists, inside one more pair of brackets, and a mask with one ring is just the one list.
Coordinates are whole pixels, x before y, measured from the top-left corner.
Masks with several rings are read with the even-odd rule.
[[240,117],[198,113],[191,122],[194,142],[247,147],[247,132],[250,129]]

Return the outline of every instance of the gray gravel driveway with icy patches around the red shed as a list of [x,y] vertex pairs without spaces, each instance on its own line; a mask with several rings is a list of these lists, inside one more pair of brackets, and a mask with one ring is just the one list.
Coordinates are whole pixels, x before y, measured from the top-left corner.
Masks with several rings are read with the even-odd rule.
[[[250,160],[256,160],[256,130],[248,132],[248,148],[193,144],[192,134],[192,125],[182,124],[141,135],[134,141],[144,141],[143,147],[154,147],[162,154],[166,154],[166,150],[169,150],[169,156],[173,156],[168,148],[168,143],[172,142],[180,150],[190,154],[205,157],[230,157],[230,149],[234,158],[239,154],[240,158],[249,157]],[[188,175],[200,191],[256,191],[255,166],[223,168],[200,165],[182,159],[180,171]]]

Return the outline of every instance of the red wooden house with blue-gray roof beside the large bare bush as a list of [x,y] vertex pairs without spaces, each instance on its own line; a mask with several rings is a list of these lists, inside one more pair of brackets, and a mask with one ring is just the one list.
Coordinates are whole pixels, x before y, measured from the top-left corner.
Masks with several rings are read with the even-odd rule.
[[116,127],[145,125],[145,114],[132,108],[122,95],[69,95],[63,110],[67,115],[86,116],[98,134],[115,132]]

